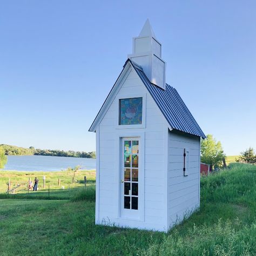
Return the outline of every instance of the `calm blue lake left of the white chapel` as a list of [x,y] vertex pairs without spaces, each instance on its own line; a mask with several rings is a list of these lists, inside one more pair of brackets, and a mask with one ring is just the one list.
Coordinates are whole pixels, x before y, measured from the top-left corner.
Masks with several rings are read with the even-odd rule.
[[82,169],[95,170],[96,159],[80,157],[51,156],[8,156],[8,162],[2,170],[16,171],[60,171],[68,167],[81,165]]

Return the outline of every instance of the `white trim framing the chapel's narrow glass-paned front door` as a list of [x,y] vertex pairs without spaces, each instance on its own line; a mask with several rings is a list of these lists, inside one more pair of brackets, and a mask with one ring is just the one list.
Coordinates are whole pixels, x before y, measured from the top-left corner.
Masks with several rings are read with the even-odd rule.
[[[122,164],[122,138],[127,137],[138,137],[139,138],[139,199],[138,199],[138,218],[122,218],[121,217],[121,164]],[[120,132],[116,138],[116,156],[117,156],[117,175],[116,175],[116,204],[117,205],[117,218],[118,219],[132,219],[144,221],[144,207],[145,207],[145,132],[131,132],[131,131],[123,131]],[[123,195],[122,195],[123,196]]]

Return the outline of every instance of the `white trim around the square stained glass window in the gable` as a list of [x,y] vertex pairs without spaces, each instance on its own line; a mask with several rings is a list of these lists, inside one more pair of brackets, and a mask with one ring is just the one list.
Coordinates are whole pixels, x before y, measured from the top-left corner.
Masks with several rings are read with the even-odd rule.
[[[119,99],[130,99],[142,97],[142,124],[119,125]],[[114,106],[116,109],[116,129],[141,129],[146,127],[146,93],[131,93],[126,95],[118,95],[115,99]]]

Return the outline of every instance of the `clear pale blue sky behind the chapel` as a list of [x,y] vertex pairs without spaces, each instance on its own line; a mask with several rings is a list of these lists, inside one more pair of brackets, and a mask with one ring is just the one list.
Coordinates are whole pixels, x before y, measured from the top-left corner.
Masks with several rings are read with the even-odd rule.
[[226,154],[256,149],[256,2],[0,2],[0,144],[95,150],[88,132],[146,18],[167,83]]

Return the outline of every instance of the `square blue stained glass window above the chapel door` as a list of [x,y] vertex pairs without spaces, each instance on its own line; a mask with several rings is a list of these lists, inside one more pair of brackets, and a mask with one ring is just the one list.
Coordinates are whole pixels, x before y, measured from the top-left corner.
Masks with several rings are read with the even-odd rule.
[[119,124],[142,124],[142,97],[119,99]]

